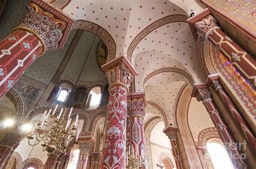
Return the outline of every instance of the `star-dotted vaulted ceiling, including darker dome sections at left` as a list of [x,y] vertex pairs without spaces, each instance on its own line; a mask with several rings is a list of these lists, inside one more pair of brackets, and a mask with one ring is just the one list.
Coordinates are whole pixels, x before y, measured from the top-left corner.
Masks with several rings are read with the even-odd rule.
[[[50,3],[76,22],[87,21],[99,25],[112,37],[116,45],[116,57],[130,60],[138,76],[136,92],[145,91],[150,113],[145,119],[159,116],[176,123],[176,107],[185,86],[205,81],[200,69],[196,43],[193,42],[186,22],[190,12],[202,8],[197,2],[188,1],[52,1]],[[27,0],[13,1],[0,28],[0,38],[8,35],[26,13]],[[14,11],[18,15],[14,15]],[[57,72],[69,48],[77,38],[72,30],[63,49],[46,52],[38,58],[24,75],[49,84]],[[72,56],[62,72],[62,77],[76,81],[87,55],[81,80],[104,79],[96,63],[96,47],[100,41],[94,33],[84,31],[74,47]],[[91,52],[89,53],[90,46]]]

